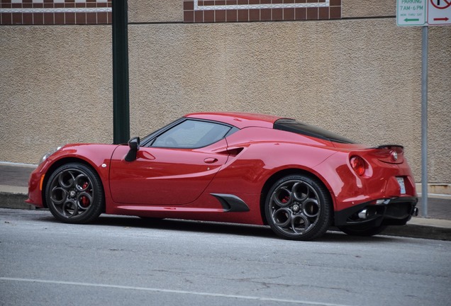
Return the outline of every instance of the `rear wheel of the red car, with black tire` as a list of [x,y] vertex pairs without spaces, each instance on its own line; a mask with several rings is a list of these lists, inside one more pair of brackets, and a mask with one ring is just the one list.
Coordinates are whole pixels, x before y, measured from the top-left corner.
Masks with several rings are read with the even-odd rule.
[[265,216],[275,234],[284,239],[321,237],[332,221],[332,201],[321,181],[305,175],[279,179],[267,194]]

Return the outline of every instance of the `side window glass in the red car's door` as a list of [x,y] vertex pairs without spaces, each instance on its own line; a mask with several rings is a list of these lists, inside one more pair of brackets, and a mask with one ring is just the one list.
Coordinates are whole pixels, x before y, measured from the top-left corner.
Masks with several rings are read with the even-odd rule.
[[198,120],[185,120],[162,133],[152,143],[152,147],[192,149],[206,147],[223,139],[230,131],[227,125]]

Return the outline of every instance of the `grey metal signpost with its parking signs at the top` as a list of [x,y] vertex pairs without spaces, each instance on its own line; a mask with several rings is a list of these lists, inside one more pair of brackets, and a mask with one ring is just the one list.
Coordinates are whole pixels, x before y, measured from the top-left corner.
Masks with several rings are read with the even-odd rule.
[[422,26],[421,214],[428,217],[428,26],[451,24],[451,0],[396,0],[398,26]]

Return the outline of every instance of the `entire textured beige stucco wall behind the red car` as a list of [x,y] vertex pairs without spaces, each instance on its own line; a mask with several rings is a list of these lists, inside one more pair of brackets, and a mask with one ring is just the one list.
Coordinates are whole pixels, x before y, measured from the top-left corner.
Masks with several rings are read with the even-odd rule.
[[[404,145],[420,181],[421,28],[396,26],[394,1],[343,0],[338,21],[216,24],[181,23],[182,2],[128,1],[132,135],[192,111],[274,113]],[[429,31],[429,177],[451,183],[451,26]],[[111,142],[111,27],[0,27],[0,55],[0,140],[16,148],[0,161]]]

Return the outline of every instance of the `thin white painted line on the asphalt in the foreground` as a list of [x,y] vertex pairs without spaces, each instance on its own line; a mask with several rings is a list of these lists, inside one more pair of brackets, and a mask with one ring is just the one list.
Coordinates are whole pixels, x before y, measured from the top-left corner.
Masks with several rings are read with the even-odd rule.
[[229,298],[231,297],[231,298],[242,299],[242,300],[286,302],[286,303],[291,303],[291,304],[304,304],[304,305],[349,306],[349,305],[343,305],[343,304],[331,304],[331,303],[327,303],[327,302],[310,302],[310,301],[306,301],[306,300],[285,300],[285,299],[278,299],[278,298],[272,298],[272,297],[256,297],[256,296],[250,296],[250,295],[227,295],[227,294],[222,294],[222,293],[202,293],[202,292],[196,292],[196,291],[135,287],[135,286],[126,286],[126,285],[107,285],[107,284],[99,284],[99,283],[77,283],[77,282],[68,282],[68,281],[60,281],[60,280],[41,280],[41,279],[32,279],[32,278],[6,278],[6,277],[0,277],[0,280],[11,280],[11,281],[28,282],[28,283],[50,283],[50,284],[56,284],[56,285],[79,285],[79,286],[85,286],[85,287],[140,290],[140,291],[151,291],[151,292],[158,292],[158,293],[202,295],[202,296],[209,296],[209,297],[229,297]]

